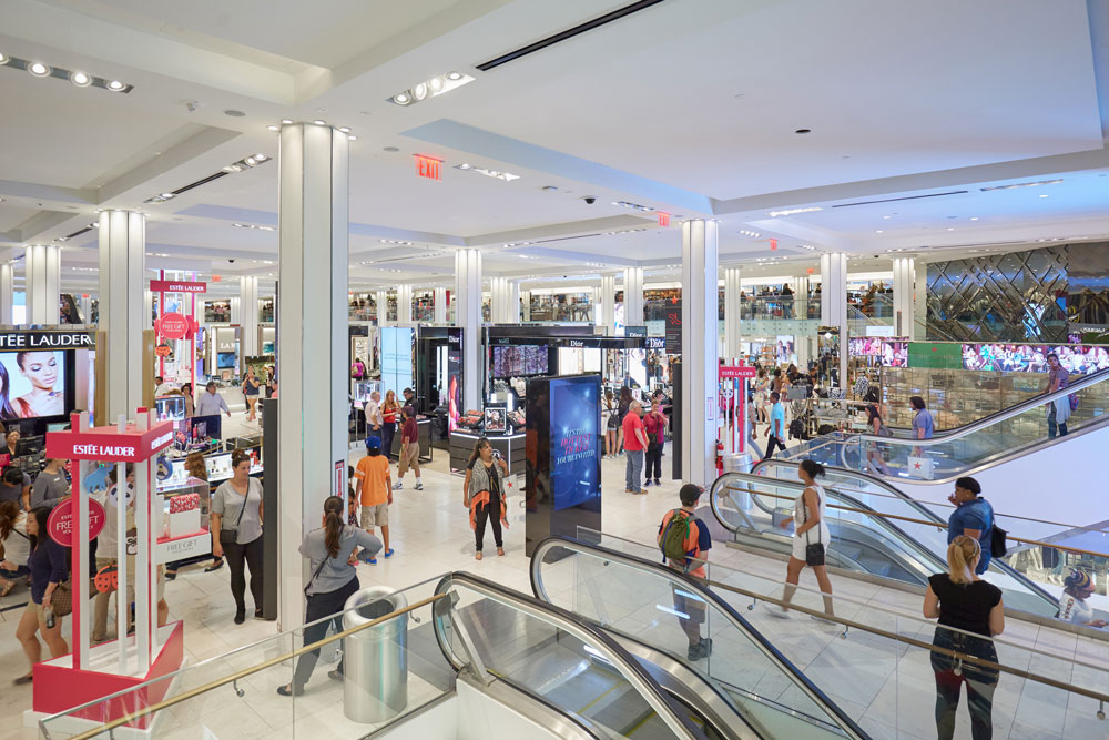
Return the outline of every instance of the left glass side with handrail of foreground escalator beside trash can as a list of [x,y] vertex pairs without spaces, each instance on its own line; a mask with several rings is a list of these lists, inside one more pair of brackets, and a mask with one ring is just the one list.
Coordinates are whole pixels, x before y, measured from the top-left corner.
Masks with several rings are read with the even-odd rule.
[[[449,597],[436,605],[436,640],[459,680],[518,711],[557,714],[559,737],[798,737],[788,712],[752,712],[685,662],[557,604],[462,572],[436,592]],[[831,710],[811,712],[803,737],[866,737]]]

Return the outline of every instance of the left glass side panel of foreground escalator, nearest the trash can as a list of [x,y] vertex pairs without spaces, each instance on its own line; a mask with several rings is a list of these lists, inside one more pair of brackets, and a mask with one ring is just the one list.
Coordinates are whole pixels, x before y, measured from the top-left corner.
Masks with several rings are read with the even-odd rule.
[[461,629],[446,614],[439,614],[437,627],[456,656],[475,649],[489,675],[610,737],[630,738],[643,726],[659,727],[662,720],[634,681],[607,658],[610,647],[584,641],[557,619],[521,610],[465,581],[452,582],[450,594],[457,596],[454,610]]

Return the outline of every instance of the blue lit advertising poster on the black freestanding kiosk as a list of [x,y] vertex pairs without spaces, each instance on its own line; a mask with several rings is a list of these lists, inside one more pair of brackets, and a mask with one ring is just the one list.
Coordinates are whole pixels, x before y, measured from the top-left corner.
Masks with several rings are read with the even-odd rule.
[[550,463],[554,510],[601,496],[600,381],[550,381]]

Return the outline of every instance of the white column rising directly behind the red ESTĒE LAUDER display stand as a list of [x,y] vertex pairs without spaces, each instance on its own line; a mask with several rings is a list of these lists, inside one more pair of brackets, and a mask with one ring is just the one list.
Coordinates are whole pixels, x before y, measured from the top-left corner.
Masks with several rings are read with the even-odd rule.
[[[144,285],[146,216],[131,211],[100,214],[100,321],[104,342],[104,409],[100,418],[128,418],[142,406],[142,333],[150,325]],[[99,410],[99,409],[98,409]]]

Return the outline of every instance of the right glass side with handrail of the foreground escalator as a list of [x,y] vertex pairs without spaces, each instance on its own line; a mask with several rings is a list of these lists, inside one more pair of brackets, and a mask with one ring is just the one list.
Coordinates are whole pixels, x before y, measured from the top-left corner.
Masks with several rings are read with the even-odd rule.
[[[660,683],[682,687],[689,706],[723,701],[752,737],[868,737],[730,604],[689,576],[552,537],[532,553],[531,584],[542,601],[611,635]],[[711,635],[708,655],[690,655],[688,624],[699,625],[701,638]]]

